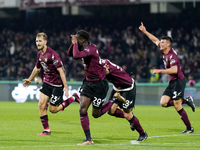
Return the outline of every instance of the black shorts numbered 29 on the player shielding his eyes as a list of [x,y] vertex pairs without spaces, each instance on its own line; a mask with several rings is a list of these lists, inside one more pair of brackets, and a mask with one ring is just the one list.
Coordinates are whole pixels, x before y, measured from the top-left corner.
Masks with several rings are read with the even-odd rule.
[[104,103],[108,88],[106,79],[97,82],[83,80],[80,95],[91,98],[93,107],[100,109]]

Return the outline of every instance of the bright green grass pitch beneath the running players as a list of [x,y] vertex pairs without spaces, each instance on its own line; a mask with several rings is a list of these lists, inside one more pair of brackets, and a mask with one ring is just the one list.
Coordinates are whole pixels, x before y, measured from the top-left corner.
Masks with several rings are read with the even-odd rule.
[[107,114],[95,119],[88,111],[90,130],[94,145],[77,146],[85,135],[79,120],[79,105],[71,104],[63,112],[48,112],[50,136],[38,136],[43,131],[39,119],[37,103],[0,102],[0,149],[28,150],[128,150],[128,149],[200,149],[199,108],[192,112],[184,105],[194,133],[182,134],[185,126],[173,107],[140,106],[133,110],[149,138],[135,142],[136,131],[132,132],[125,119],[111,117]]

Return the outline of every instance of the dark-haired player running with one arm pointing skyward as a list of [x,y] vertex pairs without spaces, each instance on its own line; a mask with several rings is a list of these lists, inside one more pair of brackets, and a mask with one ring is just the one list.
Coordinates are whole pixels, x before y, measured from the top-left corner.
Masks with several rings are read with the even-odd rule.
[[146,30],[146,27],[141,22],[139,29],[154,43],[163,53],[163,61],[165,69],[153,69],[152,73],[168,74],[169,85],[164,91],[160,104],[162,107],[174,106],[176,111],[179,113],[181,119],[186,125],[186,130],[182,133],[193,133],[194,129],[190,124],[186,111],[183,109],[182,104],[188,104],[193,112],[195,111],[195,104],[192,97],[184,99],[184,89],[186,85],[186,79],[181,71],[180,61],[176,51],[171,47],[172,39],[169,36],[163,36],[159,40],[157,37],[152,35]]

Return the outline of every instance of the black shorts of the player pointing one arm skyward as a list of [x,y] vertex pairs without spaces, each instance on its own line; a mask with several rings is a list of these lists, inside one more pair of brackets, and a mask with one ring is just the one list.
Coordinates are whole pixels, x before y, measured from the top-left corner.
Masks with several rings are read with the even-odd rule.
[[178,100],[184,97],[184,90],[186,86],[186,79],[178,79],[170,81],[169,85],[165,89],[163,95],[171,97],[173,100]]

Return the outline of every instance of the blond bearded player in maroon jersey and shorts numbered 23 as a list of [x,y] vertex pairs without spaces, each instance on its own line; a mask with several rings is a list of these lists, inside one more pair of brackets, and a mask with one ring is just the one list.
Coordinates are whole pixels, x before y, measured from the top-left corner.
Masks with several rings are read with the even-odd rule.
[[50,101],[49,111],[57,113],[64,110],[73,101],[79,102],[79,96],[74,93],[73,96],[63,101],[63,91],[68,97],[68,85],[66,81],[65,70],[62,61],[57,52],[47,47],[46,33],[38,33],[36,36],[36,46],[39,50],[37,54],[36,65],[28,79],[24,79],[24,86],[28,86],[40,71],[42,77],[42,87],[39,97],[39,115],[44,131],[38,135],[50,135],[48,124],[47,106]]

